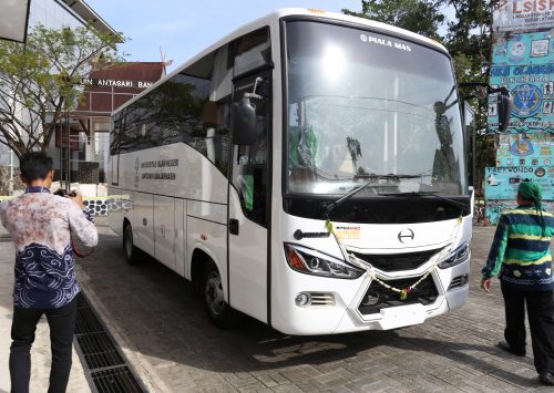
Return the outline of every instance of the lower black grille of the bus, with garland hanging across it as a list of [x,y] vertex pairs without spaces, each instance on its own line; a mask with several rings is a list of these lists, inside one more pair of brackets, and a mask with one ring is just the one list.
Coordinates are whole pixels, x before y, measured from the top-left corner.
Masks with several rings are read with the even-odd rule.
[[[409,286],[418,281],[418,277],[412,277],[408,279],[400,280],[383,280],[389,286],[406,289]],[[386,288],[377,281],[371,282],[368,291],[363,296],[358,310],[363,316],[378,313],[381,309],[389,307],[398,307],[406,304],[421,303],[423,306],[432,304],[439,297],[439,291],[434,285],[433,278],[429,275],[423,281],[421,281],[414,289],[412,289],[406,300],[400,299],[400,293],[393,291],[390,288]]]

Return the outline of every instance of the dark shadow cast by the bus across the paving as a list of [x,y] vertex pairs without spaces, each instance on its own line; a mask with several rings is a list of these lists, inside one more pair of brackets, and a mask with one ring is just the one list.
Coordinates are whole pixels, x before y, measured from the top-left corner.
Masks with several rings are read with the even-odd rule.
[[[239,373],[305,364],[332,368],[341,362],[342,368],[348,370],[350,364],[356,372],[371,372],[375,368],[386,372],[386,364],[389,371],[416,373],[417,363],[424,358],[437,370],[441,362],[452,369],[458,363],[511,384],[536,386],[534,379],[495,364],[511,361],[501,350],[443,337],[413,338],[402,331],[290,337],[247,317],[239,328],[222,331],[209,323],[202,299],[193,294],[186,280],[147,256],[138,266],[129,266],[121,239],[115,236],[102,235],[101,245],[93,258],[81,261],[81,270],[86,273],[83,287],[102,302],[110,318],[109,327],[116,327],[130,349],[146,355],[154,368],[176,363],[217,373]],[[361,364],[357,359],[360,352],[365,352]],[[532,368],[529,358],[513,362]]]

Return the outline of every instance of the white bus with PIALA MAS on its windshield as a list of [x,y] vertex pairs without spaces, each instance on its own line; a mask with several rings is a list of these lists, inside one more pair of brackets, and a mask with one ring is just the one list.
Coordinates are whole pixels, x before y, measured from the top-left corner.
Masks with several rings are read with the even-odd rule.
[[465,146],[442,45],[279,10],[113,114],[110,225],[130,262],[198,286],[217,325],[411,325],[468,297]]

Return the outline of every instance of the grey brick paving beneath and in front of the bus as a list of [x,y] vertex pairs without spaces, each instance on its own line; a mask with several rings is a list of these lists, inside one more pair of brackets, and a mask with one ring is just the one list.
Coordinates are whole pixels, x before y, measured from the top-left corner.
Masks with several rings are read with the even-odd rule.
[[479,290],[492,228],[475,227],[463,309],[398,331],[311,338],[250,319],[233,331],[212,327],[182,278],[152,260],[127,266],[121,239],[100,229],[102,246],[81,262],[80,280],[151,391],[540,390],[531,354],[494,348],[504,321],[499,285],[491,294]]

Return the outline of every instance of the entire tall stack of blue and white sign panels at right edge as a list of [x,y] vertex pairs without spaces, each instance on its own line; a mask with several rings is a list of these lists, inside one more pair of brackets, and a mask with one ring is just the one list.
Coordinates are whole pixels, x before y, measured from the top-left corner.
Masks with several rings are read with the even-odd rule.
[[[554,166],[554,0],[500,0],[493,11],[490,84],[512,95],[505,134],[497,136],[496,167],[485,170],[485,216],[495,225],[515,204],[521,182],[543,186],[552,209]],[[488,132],[499,132],[495,99],[489,100]]]

